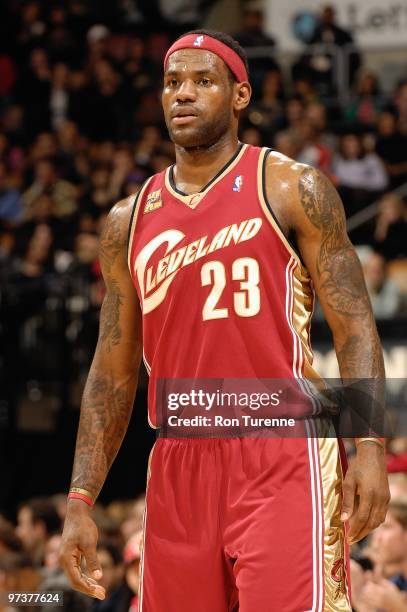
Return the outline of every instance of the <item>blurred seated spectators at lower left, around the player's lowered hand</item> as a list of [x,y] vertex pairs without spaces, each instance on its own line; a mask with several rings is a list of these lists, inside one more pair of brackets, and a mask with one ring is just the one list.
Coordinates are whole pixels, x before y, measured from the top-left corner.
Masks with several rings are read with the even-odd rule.
[[[47,604],[44,610],[67,612],[136,612],[142,546],[144,496],[95,506],[99,529],[97,556],[103,572],[104,601],[74,592],[59,564],[66,496],[38,497],[22,503],[14,525],[0,514],[0,594],[56,592],[64,607]],[[0,599],[0,612],[20,608]],[[24,607],[29,612],[30,607]],[[42,611],[41,607],[32,610]]]

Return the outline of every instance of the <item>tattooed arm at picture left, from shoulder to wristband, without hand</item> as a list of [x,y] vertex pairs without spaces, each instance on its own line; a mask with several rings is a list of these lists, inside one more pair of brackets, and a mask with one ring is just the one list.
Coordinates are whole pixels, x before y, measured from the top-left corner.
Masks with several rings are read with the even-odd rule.
[[[125,224],[120,207],[108,216],[100,239],[100,260],[106,296],[100,314],[98,355],[95,356],[82,399],[72,474],[74,486],[99,493],[124,438],[136,389],[136,377],[120,365],[125,292]],[[127,235],[127,234],[126,234]]]

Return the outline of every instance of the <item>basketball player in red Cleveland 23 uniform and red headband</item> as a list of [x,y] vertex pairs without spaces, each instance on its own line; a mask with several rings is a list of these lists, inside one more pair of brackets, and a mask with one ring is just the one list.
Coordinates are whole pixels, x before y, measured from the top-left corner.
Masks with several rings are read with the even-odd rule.
[[[126,432],[142,356],[155,427],[158,379],[312,378],[315,287],[341,376],[384,377],[339,197],[318,171],[238,141],[250,95],[233,39],[178,39],[162,94],[176,164],[114,206],[101,237],[107,294],[61,553],[73,587],[99,599],[90,507]],[[140,612],[350,610],[348,544],[384,520],[389,498],[382,440],[356,445],[342,483],[333,438],[159,438]]]

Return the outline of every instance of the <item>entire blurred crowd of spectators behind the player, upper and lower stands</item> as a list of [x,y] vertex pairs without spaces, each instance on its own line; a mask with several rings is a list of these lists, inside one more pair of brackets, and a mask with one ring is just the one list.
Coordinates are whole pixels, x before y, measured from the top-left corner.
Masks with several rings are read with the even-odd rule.
[[[12,0],[0,25],[0,310],[7,322],[0,339],[4,361],[11,367],[18,361],[32,393],[34,379],[44,372],[52,378],[63,343],[75,344],[87,370],[97,333],[97,315],[88,313],[97,313],[104,295],[98,236],[117,200],[174,162],[160,106],[162,57],[174,36],[198,25],[205,3],[161,29],[151,19],[144,27],[130,0],[100,2],[99,13],[96,4]],[[270,49],[250,59],[254,96],[241,140],[326,173],[349,220],[373,206],[351,238],[376,317],[405,316],[407,71],[383,91],[380,75],[365,71],[355,51],[343,100],[329,61],[316,62],[307,49],[290,74],[283,71],[278,40],[264,33],[257,9],[245,12],[236,38],[247,48]],[[328,8],[309,42],[340,46],[352,38]],[[66,354],[61,363],[67,375]],[[405,439],[398,444],[388,455],[394,474],[386,522],[352,550],[357,612],[407,610],[407,448]],[[24,503],[16,526],[0,516],[0,591],[63,590],[67,609],[78,612],[135,610],[143,505],[140,498],[95,510],[103,603],[69,591],[58,566],[63,496]]]

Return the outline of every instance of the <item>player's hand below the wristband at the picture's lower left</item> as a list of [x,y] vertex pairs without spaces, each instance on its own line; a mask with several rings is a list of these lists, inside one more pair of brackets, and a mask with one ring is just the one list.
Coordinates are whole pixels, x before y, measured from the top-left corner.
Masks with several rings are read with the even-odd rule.
[[[97,540],[98,531],[90,508],[81,500],[69,500],[59,556],[61,566],[76,591],[104,599],[105,589],[97,582],[102,578]],[[82,568],[83,558],[86,572]]]

